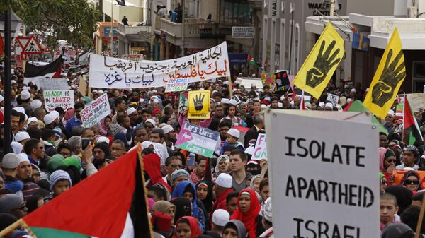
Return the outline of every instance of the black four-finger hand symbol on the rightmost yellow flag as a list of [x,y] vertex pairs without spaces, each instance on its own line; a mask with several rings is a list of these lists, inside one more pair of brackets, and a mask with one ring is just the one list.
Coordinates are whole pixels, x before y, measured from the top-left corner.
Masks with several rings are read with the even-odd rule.
[[390,64],[391,56],[392,49],[388,52],[384,70],[382,71],[379,81],[372,89],[372,103],[380,107],[385,105],[385,102],[388,102],[388,100],[391,100],[397,84],[406,77],[406,71],[401,72],[405,69],[404,61],[402,61],[402,63],[397,67],[397,64],[399,64],[399,61],[403,56],[402,49],[400,49],[400,52]]

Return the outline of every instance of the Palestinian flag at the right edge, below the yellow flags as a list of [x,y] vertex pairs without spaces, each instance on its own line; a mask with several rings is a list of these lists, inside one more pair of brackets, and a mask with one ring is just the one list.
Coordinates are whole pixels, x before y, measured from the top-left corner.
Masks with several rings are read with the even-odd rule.
[[422,141],[422,136],[407,97],[404,97],[403,109],[403,142],[405,145],[413,145],[415,141]]

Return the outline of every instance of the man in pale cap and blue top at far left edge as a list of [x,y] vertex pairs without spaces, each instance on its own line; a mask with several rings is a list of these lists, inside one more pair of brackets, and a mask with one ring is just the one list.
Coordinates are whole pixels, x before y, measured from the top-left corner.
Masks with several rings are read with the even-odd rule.
[[4,173],[4,188],[22,196],[23,182],[16,180],[19,169],[19,157],[14,153],[4,155],[1,170]]

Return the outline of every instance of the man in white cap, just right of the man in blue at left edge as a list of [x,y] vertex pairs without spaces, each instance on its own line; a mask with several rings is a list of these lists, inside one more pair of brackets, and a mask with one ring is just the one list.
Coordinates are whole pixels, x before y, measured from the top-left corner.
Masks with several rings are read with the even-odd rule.
[[33,167],[30,164],[30,160],[24,153],[18,154],[19,157],[19,166],[18,166],[18,174],[16,174],[16,178],[23,182],[23,201],[27,201],[28,198],[33,196],[35,191],[40,189],[40,186],[31,182]]

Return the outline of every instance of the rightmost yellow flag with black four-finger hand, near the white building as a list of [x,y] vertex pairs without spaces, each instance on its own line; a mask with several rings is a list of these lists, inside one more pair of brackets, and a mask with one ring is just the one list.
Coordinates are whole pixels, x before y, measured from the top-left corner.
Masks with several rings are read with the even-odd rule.
[[363,105],[376,116],[385,119],[404,78],[406,78],[406,66],[402,41],[395,28],[370,83]]

